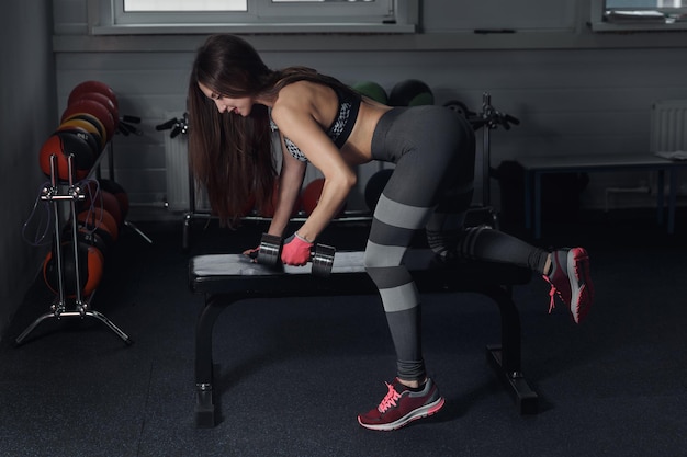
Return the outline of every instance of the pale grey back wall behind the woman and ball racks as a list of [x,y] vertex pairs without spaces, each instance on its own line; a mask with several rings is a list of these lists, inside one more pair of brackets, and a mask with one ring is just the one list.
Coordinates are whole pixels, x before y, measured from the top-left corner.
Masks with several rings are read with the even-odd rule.
[[[550,4],[522,1],[539,2],[540,11]],[[188,71],[204,37],[89,37],[86,0],[54,3],[59,110],[78,82],[108,82],[122,112],[144,119],[143,136],[115,138],[115,178],[134,205],[161,206],[165,134],[154,126],[184,111]],[[652,102],[687,99],[685,34],[595,34],[585,25],[588,0],[566,4],[561,11],[543,11],[540,23],[537,13],[527,10],[514,22],[521,30],[505,36],[465,31],[466,14],[484,14],[473,2],[424,1],[424,33],[418,35],[248,39],[272,67],[306,65],[345,82],[373,80],[387,90],[417,78],[433,89],[438,103],[459,99],[480,111],[482,94],[488,91],[498,111],[521,121],[509,132],[493,132],[493,167],[522,156],[646,152]],[[509,26],[514,9],[500,11],[502,16],[498,9],[488,8],[488,20],[475,23]],[[584,195],[590,207],[602,205],[607,187],[645,180],[637,173],[590,178]]]

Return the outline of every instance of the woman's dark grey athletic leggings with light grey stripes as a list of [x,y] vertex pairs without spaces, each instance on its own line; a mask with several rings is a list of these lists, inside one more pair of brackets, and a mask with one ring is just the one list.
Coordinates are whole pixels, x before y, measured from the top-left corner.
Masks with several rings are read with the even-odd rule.
[[397,376],[423,381],[420,300],[403,256],[425,228],[438,254],[506,262],[543,272],[548,252],[486,227],[465,229],[473,194],[475,136],[442,106],[397,107],[372,137],[372,157],[396,164],[374,210],[364,264],[380,290],[397,358]]

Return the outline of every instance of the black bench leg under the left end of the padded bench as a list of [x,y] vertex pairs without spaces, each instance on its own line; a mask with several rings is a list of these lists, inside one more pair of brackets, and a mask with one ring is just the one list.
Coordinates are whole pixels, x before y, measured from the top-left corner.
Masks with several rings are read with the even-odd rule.
[[226,296],[207,296],[195,325],[195,425],[199,429],[210,429],[216,424],[213,392],[213,328],[222,311],[234,301]]

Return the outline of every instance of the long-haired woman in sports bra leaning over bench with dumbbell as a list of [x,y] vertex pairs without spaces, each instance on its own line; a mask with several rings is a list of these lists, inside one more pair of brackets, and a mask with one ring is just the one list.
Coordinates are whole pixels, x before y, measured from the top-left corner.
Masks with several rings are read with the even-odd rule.
[[[441,106],[388,107],[361,98],[315,70],[271,70],[245,41],[211,36],[199,49],[189,84],[190,157],[212,207],[233,222],[279,197],[269,233],[282,236],[309,162],[325,178],[317,207],[284,241],[282,261],[304,265],[313,243],[356,185],[357,165],[395,163],[374,210],[364,266],[380,289],[397,356],[397,375],[378,408],[358,416],[372,430],[394,430],[444,403],[427,377],[420,349],[417,289],[403,264],[415,230],[425,228],[438,261],[481,259],[527,266],[552,286],[575,322],[592,305],[588,255],[582,248],[548,252],[496,230],[463,228],[473,194],[475,138],[470,124]],[[271,133],[283,151],[277,173]],[[246,251],[255,253],[255,250]]]

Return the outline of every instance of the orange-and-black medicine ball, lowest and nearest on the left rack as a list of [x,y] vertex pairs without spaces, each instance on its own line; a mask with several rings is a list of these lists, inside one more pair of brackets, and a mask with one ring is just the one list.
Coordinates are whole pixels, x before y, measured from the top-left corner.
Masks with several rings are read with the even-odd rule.
[[[64,279],[64,292],[68,297],[76,296],[77,287],[85,296],[89,296],[95,290],[102,278],[104,258],[94,247],[77,242],[78,275],[77,284],[77,260],[75,259],[74,241],[63,241],[61,249],[61,271]],[[43,262],[43,278],[45,284],[55,294],[59,293],[59,271],[57,265],[57,254],[53,249],[47,253]]]

